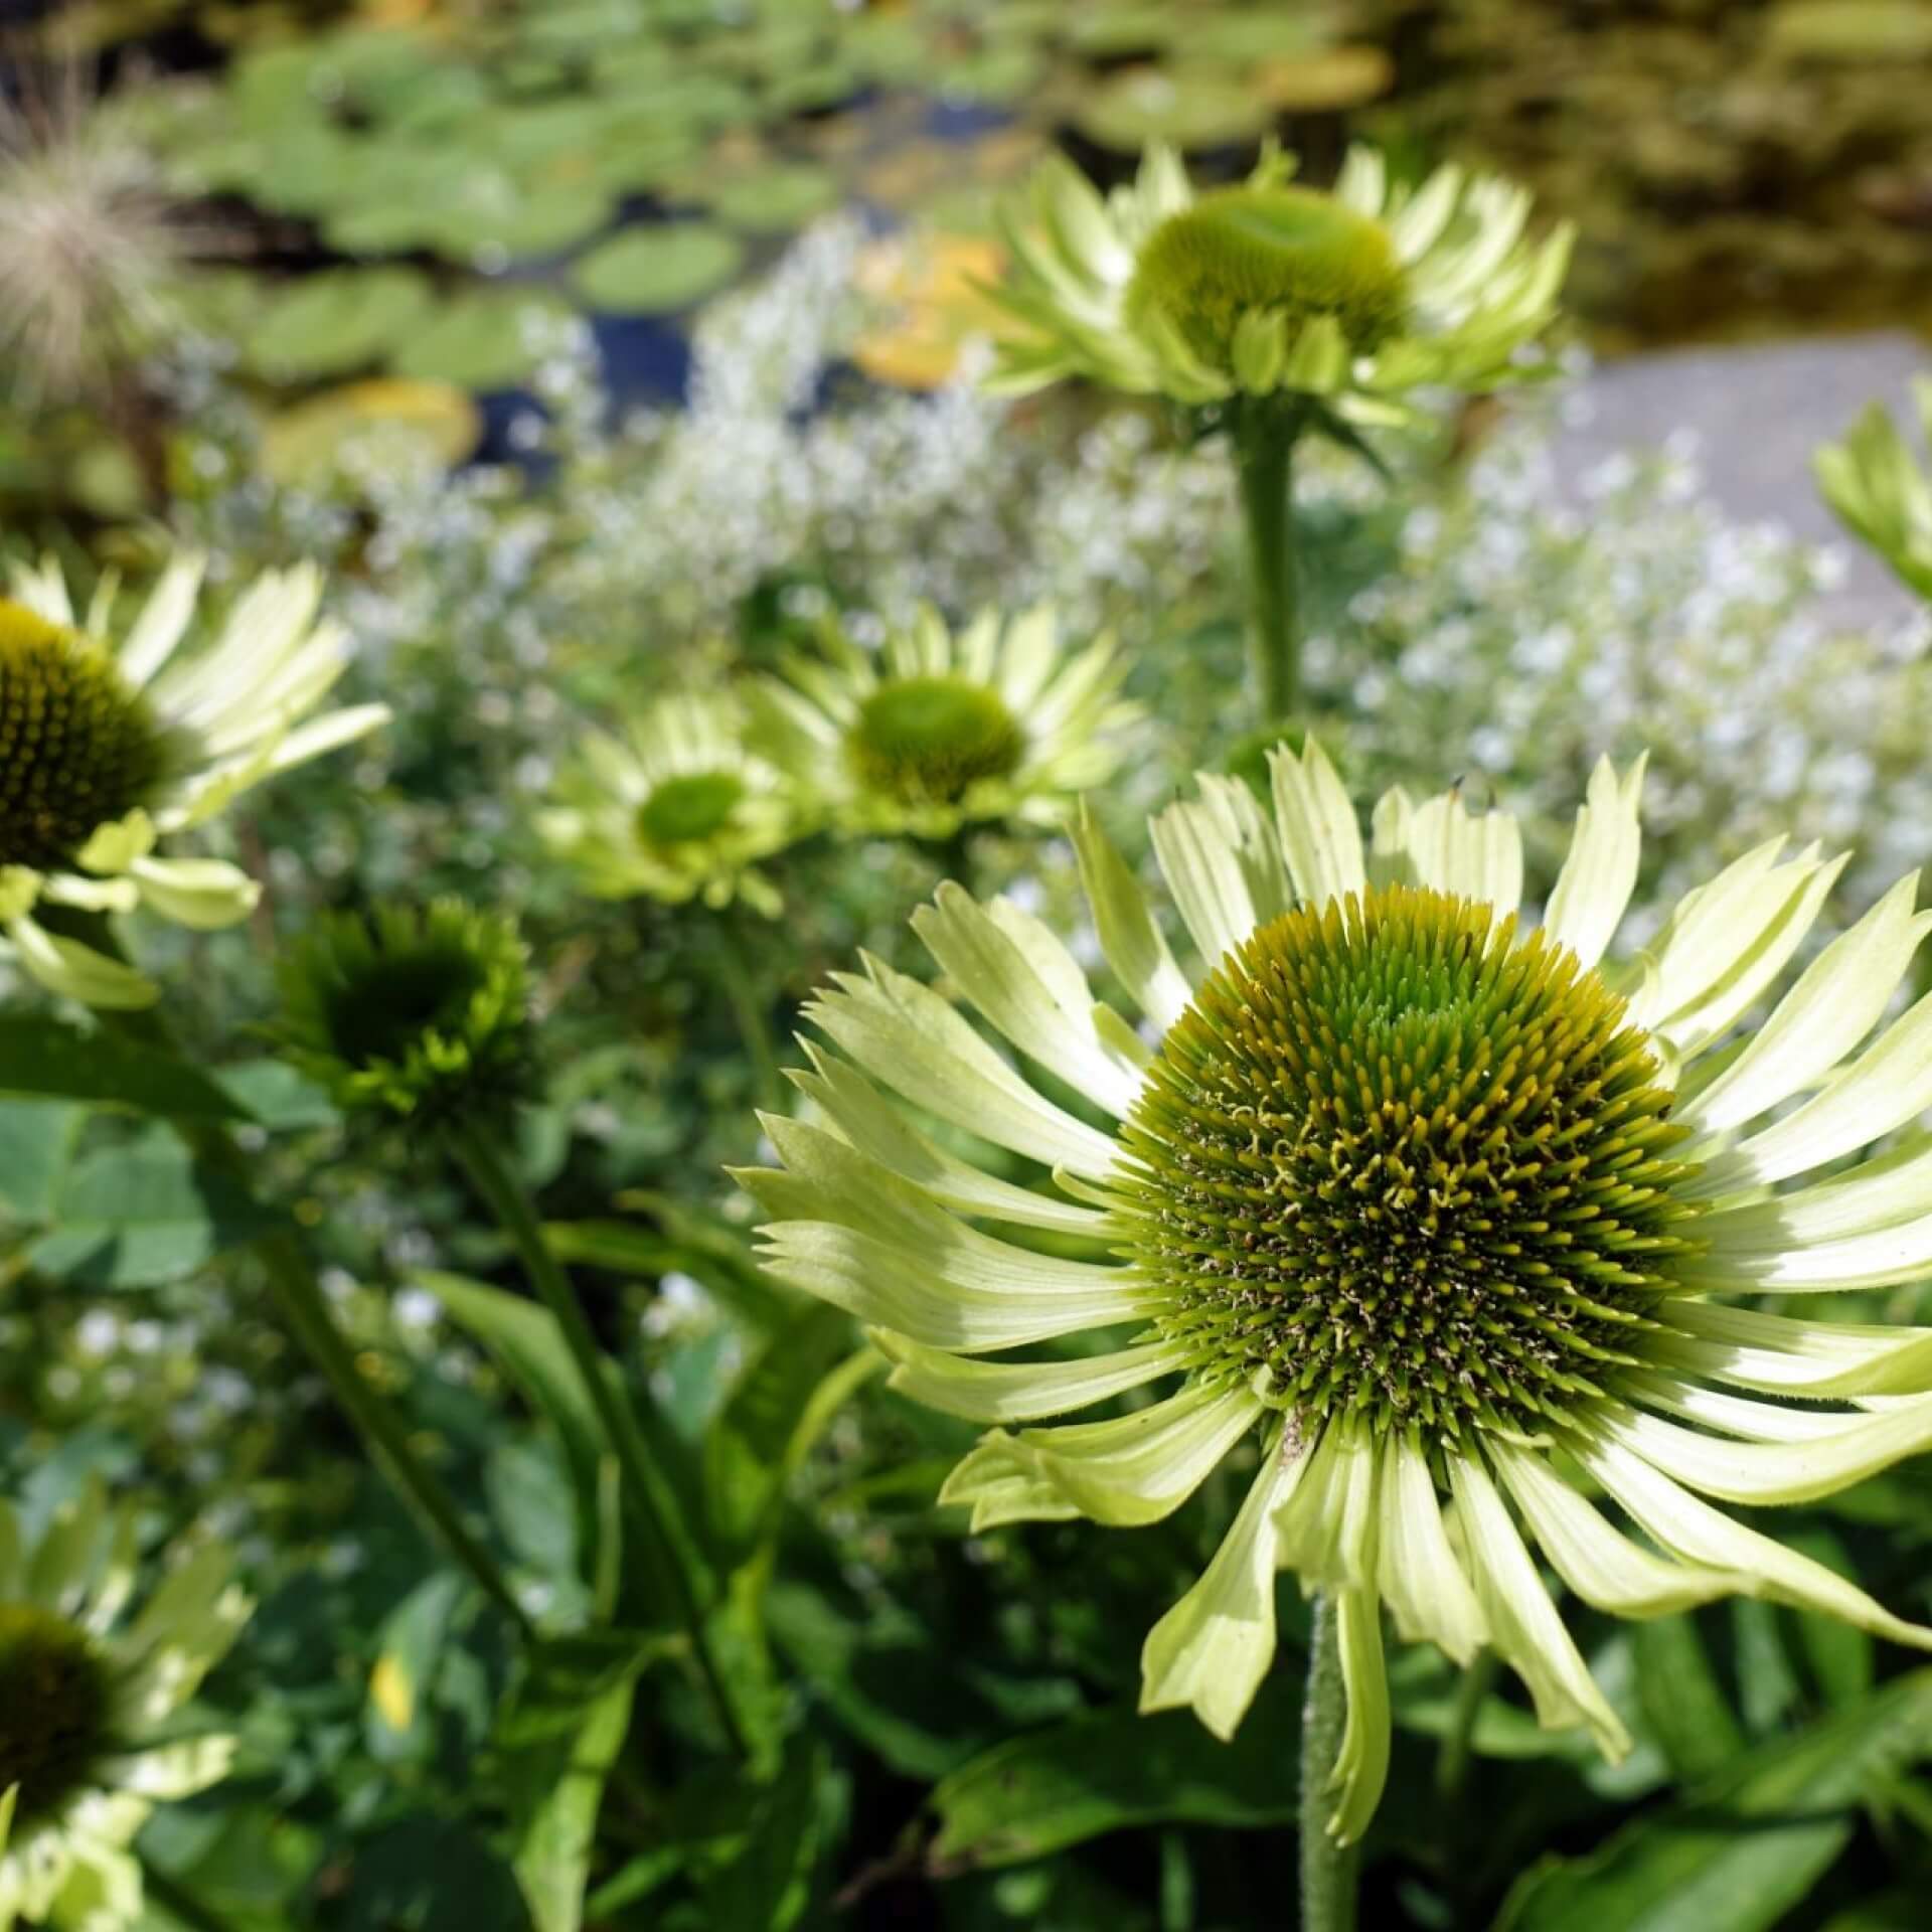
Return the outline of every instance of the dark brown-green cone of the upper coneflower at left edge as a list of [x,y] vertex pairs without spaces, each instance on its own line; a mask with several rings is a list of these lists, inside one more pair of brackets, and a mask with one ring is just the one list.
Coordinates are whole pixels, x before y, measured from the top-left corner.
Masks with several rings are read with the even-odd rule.
[[0,866],[71,864],[166,769],[166,738],[114,659],[0,597]]

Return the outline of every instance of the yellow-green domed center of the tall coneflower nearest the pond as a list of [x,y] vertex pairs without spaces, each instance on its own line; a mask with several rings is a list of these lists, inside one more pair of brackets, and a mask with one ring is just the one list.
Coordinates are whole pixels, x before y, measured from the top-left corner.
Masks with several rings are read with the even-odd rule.
[[1356,354],[1403,319],[1403,265],[1381,222],[1312,187],[1221,187],[1148,238],[1126,292],[1130,317],[1159,313],[1196,355],[1225,369],[1235,328],[1260,309],[1289,334],[1331,315]]

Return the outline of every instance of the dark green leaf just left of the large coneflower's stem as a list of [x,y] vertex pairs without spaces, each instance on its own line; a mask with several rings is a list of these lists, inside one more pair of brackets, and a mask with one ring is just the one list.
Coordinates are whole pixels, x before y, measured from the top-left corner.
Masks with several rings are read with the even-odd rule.
[[[1294,1816],[1298,1692],[1275,1671],[1223,1745],[1192,1712],[1095,1712],[997,1745],[933,1791],[935,1876],[1020,1864],[1144,1824],[1273,1826]],[[1577,1920],[1578,1924],[1582,1920]],[[1596,1932],[1596,1920],[1590,1920]]]

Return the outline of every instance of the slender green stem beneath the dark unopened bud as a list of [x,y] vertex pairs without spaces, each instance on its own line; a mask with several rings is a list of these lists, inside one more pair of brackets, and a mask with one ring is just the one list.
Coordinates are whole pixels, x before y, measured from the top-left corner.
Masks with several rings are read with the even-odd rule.
[[597,1347],[597,1337],[591,1333],[583,1304],[578,1300],[576,1289],[558,1265],[556,1256],[551,1254],[524,1184],[504,1165],[487,1130],[477,1128],[473,1122],[458,1122],[446,1132],[458,1165],[469,1175],[477,1194],[483,1196],[504,1235],[510,1236],[510,1246],[516,1248],[529,1285],[556,1318],[556,1329],[570,1350],[570,1358],[576,1362],[578,1374],[583,1378],[585,1393],[616,1453],[618,1470],[624,1478],[624,1495],[632,1517],[651,1546],[653,1567],[670,1578],[678,1598],[678,1615],[690,1634],[692,1656],[717,1704],[719,1721],[732,1748],[744,1756],[748,1754],[744,1727],[726,1687],[724,1671],[713,1656],[711,1638],[705,1629],[705,1607],[699,1602],[697,1584],[694,1582],[697,1551],[690,1546],[690,1538],[682,1530],[676,1503],[663,1474],[651,1461],[651,1451],[643,1439],[643,1432],[638,1428],[638,1418],[630,1412],[624,1397],[612,1383],[611,1362],[603,1349]]

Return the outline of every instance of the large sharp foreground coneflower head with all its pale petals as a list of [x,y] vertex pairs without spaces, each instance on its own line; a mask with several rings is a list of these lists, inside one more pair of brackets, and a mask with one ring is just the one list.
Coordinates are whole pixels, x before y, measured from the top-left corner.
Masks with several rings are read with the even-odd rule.
[[[742,1177],[782,1279],[869,1323],[908,1395],[995,1424],[943,1493],[976,1528],[1153,1522],[1258,1449],[1219,1553],[1148,1634],[1142,1706],[1233,1733],[1275,1650],[1275,1571],[1333,1594],[1343,1839],[1387,1770],[1383,1611],[1459,1662],[1493,1648],[1544,1723],[1627,1747],[1538,1551],[1615,1615],[1745,1594],[1932,1648],[1716,1507],[1932,1447],[1932,1329],[1803,1314],[1932,1273],[1911,1130],[1932,999],[1886,1022],[1932,914],[1901,881],[1777,999],[1843,866],[1777,840],[1611,958],[1640,784],[1640,763],[1596,769],[1532,925],[1503,811],[1391,792],[1364,846],[1314,742],[1275,752],[1271,810],[1202,777],[1151,825],[1192,964],[1082,813],[1138,1024],[1041,920],[941,887],[914,925],[958,1005],[877,960],[837,976],[810,1009],[833,1051],[794,1076],[817,1119],[767,1121],[782,1167]],[[1051,1349],[1090,1329],[1113,1345]]]

